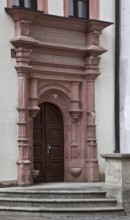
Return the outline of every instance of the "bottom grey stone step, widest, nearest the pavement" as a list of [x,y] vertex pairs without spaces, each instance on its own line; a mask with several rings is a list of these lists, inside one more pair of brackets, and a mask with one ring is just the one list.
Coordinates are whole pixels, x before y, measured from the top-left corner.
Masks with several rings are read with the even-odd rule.
[[87,216],[124,216],[124,209],[120,206],[116,207],[88,207],[88,208],[42,208],[42,207],[7,207],[0,206],[0,216],[33,216],[33,217],[48,217],[54,216],[56,218],[68,217],[68,219],[75,219],[75,217]]

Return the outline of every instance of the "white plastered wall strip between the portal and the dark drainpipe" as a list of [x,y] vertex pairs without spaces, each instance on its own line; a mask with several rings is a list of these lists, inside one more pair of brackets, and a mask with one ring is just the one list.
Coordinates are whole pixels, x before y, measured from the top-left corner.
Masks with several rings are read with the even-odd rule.
[[[115,3],[100,0],[100,20],[115,23]],[[115,25],[103,30],[100,44],[108,49],[101,55],[101,75],[96,79],[96,133],[100,174],[104,174],[105,160],[101,154],[113,153],[115,149],[114,131],[114,65],[115,65]]]

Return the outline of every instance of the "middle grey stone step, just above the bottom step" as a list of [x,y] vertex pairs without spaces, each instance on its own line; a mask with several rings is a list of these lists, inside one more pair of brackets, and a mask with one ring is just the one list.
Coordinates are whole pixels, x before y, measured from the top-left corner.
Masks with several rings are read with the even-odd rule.
[[11,207],[41,207],[41,208],[86,208],[113,207],[115,199],[34,199],[34,198],[0,198],[0,206]]

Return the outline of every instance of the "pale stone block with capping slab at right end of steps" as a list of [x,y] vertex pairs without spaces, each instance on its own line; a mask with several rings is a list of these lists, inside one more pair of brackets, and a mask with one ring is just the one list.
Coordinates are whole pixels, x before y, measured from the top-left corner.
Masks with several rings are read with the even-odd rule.
[[130,154],[105,154],[105,189],[130,213]]

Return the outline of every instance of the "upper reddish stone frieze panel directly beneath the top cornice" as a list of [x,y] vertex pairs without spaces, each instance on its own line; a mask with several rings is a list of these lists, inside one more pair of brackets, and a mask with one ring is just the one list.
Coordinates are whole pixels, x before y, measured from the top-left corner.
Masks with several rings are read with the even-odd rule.
[[85,45],[85,34],[81,32],[74,32],[62,30],[57,28],[39,27],[36,25],[30,26],[30,36],[48,42],[60,42],[67,44]]

